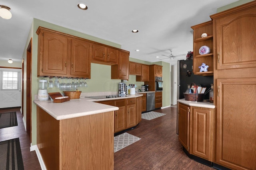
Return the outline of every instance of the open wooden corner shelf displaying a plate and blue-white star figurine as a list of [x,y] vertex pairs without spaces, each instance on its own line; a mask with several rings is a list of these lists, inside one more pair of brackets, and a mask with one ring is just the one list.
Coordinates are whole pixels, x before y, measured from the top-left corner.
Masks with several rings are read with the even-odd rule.
[[[213,70],[214,70],[214,64],[213,64],[213,25],[212,21],[207,21],[204,23],[200,23],[198,25],[194,25],[191,27],[194,30],[193,33],[193,72],[194,74],[201,75],[201,76],[212,76]],[[201,37],[202,33],[207,33],[207,37]],[[210,53],[200,55],[199,49],[206,45],[210,48]],[[198,66],[201,66],[202,63],[205,63],[208,65],[208,72],[200,72],[200,68]]]

